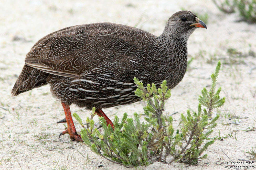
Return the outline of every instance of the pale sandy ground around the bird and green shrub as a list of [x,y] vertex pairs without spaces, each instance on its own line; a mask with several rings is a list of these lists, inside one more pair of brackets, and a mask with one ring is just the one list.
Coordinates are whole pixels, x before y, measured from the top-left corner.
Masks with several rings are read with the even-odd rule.
[[[196,12],[199,19],[207,13],[207,30],[197,29],[189,38],[189,58],[195,59],[182,82],[172,89],[166,114],[178,112],[173,115],[174,126],[178,128],[180,113],[188,108],[197,109],[198,95],[211,84],[210,74],[221,60],[217,86],[222,87],[221,97],[226,97],[226,103],[219,110],[221,116],[212,137],[224,140],[216,140],[205,152],[208,158],[196,166],[155,162],[137,169],[225,169],[226,161],[248,160],[244,152],[256,144],[256,131],[246,132],[253,129],[256,121],[256,58],[249,53],[256,52],[256,24],[240,21],[238,13],[223,14],[211,1],[204,0],[26,0],[1,1],[0,6],[0,169],[98,169],[99,165],[103,165],[99,169],[126,169],[101,158],[84,144],[70,142],[68,135],[59,138],[64,125],[56,122],[64,118],[64,112],[60,102],[51,96],[48,85],[17,97],[11,97],[10,91],[26,53],[53,31],[72,25],[114,22],[137,25],[160,35],[167,19],[181,9]],[[231,56],[227,52],[230,48],[242,56]],[[124,112],[131,117],[134,112],[142,114],[143,106],[144,102],[137,102],[104,111],[110,119]],[[71,111],[83,120],[90,114],[74,105]],[[79,130],[76,121],[75,125]]]

